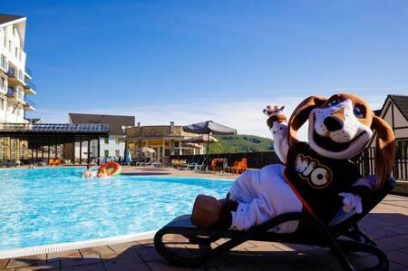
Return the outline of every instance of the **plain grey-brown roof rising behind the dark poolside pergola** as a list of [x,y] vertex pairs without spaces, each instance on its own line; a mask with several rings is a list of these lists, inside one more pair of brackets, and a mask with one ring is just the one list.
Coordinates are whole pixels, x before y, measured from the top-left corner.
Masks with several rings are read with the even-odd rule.
[[121,126],[134,126],[133,116],[69,113],[71,123],[108,124],[109,134],[122,135]]

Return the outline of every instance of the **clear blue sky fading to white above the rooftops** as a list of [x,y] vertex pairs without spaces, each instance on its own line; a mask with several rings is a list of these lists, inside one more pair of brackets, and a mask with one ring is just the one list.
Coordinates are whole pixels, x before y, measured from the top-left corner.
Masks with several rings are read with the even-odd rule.
[[212,119],[269,136],[268,103],[408,93],[406,1],[2,1],[27,16],[37,111]]

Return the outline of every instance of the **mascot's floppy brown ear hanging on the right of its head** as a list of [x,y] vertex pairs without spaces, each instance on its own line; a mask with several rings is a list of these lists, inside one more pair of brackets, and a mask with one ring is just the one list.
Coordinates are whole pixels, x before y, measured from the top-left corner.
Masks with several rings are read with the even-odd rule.
[[395,136],[393,129],[383,119],[374,116],[373,128],[377,131],[375,147],[375,173],[377,174],[376,189],[381,189],[390,177],[395,161]]

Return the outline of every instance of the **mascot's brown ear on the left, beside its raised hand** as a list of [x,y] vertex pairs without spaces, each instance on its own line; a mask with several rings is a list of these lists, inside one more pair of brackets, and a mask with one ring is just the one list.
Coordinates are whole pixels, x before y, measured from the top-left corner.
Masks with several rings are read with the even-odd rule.
[[289,119],[289,132],[287,133],[287,143],[289,148],[293,147],[297,142],[297,131],[309,118],[310,111],[314,108],[320,107],[327,98],[323,96],[310,96],[305,101],[297,105],[296,110],[293,111]]

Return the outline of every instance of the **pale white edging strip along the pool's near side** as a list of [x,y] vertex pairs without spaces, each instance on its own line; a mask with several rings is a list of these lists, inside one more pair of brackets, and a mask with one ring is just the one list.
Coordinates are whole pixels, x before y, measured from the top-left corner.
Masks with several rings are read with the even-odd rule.
[[47,253],[63,252],[73,249],[88,248],[88,247],[102,247],[106,245],[120,244],[126,242],[139,241],[150,239],[154,237],[157,230],[145,231],[136,234],[124,235],[119,237],[106,237],[98,239],[90,239],[85,241],[67,242],[51,245],[42,245],[34,247],[21,247],[11,249],[1,249],[0,259],[13,258],[20,256],[34,256]]

